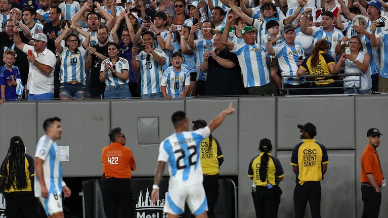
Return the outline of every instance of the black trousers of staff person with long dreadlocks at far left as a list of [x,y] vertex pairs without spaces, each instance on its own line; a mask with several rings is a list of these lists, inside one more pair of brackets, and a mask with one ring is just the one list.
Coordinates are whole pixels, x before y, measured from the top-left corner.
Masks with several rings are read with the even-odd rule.
[[33,192],[5,192],[6,216],[9,218],[40,218],[39,202]]

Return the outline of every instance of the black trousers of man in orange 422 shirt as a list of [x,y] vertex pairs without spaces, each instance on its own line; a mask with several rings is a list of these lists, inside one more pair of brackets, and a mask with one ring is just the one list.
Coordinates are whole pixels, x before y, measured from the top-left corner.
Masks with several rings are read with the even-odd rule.
[[104,211],[107,218],[117,218],[119,208],[123,217],[135,217],[135,200],[129,179],[105,179],[102,188]]

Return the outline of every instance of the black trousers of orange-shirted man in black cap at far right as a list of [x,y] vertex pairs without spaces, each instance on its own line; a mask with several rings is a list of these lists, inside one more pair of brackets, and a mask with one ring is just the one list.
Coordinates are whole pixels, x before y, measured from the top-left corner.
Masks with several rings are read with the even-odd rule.
[[381,205],[381,192],[377,193],[372,186],[361,185],[362,201],[364,209],[362,218],[378,218]]

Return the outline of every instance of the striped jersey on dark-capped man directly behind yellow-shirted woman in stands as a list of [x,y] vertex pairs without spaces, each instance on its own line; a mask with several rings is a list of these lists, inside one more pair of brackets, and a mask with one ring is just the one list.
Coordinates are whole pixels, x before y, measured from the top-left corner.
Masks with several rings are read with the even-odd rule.
[[330,50],[328,53],[337,62],[339,56],[335,55],[335,47],[337,46],[338,39],[342,38],[343,36],[342,32],[335,27],[332,27],[332,32],[326,32],[322,26],[312,26],[311,28],[313,29],[313,33],[311,35],[314,36],[313,44],[315,45],[315,43],[317,43],[317,41],[320,39],[325,39],[327,42],[329,42],[330,45]]

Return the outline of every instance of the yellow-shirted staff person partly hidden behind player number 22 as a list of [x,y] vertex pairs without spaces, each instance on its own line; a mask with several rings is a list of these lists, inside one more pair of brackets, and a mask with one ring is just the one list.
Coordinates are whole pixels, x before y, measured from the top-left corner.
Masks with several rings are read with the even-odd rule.
[[[193,120],[193,131],[207,126],[203,119]],[[207,217],[214,217],[214,207],[218,198],[218,175],[220,166],[224,162],[224,154],[222,153],[220,143],[213,138],[211,134],[208,138],[201,141],[200,156],[203,173],[203,188],[207,198]]]

